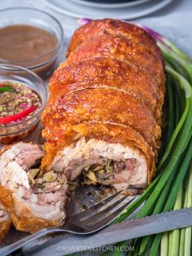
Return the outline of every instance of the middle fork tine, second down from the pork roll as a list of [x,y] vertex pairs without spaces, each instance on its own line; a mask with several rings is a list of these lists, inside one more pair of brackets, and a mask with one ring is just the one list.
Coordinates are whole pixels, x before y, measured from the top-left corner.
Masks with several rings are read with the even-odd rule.
[[121,197],[119,200],[117,200],[116,202],[114,202],[112,205],[107,206],[106,208],[104,208],[103,210],[99,211],[98,213],[95,214],[95,213],[93,212],[93,215],[91,215],[91,216],[84,216],[84,217],[80,218],[80,220],[81,220],[81,221],[84,221],[84,220],[85,220],[86,222],[88,222],[88,221],[91,221],[92,219],[95,219],[95,218],[98,219],[98,218],[102,217],[103,214],[109,212],[109,210],[115,209],[115,207],[116,207],[117,205],[120,205],[120,203],[121,203],[122,201],[124,201],[126,198],[128,198],[128,196],[129,196],[129,195],[123,196],[123,197]]

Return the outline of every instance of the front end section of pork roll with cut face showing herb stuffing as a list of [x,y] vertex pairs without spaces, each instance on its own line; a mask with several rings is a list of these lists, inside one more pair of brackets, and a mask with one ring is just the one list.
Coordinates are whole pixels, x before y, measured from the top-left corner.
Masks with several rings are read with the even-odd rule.
[[86,184],[103,183],[119,190],[146,188],[153,177],[154,152],[129,126],[89,122],[68,126],[65,134],[55,129],[45,137],[47,156],[42,165],[63,171],[70,181],[84,174]]

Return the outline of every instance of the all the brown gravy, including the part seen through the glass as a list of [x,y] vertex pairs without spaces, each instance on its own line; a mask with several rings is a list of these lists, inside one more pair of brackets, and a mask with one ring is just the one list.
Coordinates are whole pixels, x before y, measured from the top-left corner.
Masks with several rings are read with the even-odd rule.
[[0,29],[0,60],[32,69],[41,77],[54,67],[58,38],[31,25],[14,24]]

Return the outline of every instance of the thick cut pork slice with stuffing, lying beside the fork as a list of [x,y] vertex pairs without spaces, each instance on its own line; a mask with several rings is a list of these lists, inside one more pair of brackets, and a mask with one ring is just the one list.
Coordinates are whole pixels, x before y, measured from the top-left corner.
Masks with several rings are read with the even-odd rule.
[[20,231],[59,226],[65,218],[66,178],[54,170],[41,174],[33,167],[43,155],[37,144],[15,143],[0,157],[0,202]]

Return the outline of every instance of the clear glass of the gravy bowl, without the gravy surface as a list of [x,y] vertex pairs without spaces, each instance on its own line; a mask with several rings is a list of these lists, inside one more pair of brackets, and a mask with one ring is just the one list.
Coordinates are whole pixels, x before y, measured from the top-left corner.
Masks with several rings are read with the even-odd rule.
[[63,46],[63,28],[61,24],[54,16],[46,13],[46,11],[35,8],[13,7],[0,11],[0,28],[16,24],[45,29],[55,36],[58,43],[52,51],[37,58],[30,60],[0,60],[0,62],[28,68],[42,78],[48,77],[54,69],[55,61]]

